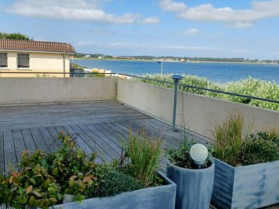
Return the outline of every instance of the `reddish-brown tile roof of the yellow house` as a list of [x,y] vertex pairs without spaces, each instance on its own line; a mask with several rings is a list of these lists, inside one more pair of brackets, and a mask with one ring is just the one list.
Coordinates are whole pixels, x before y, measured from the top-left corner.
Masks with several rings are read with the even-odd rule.
[[36,40],[0,39],[0,49],[75,54],[75,49],[68,43]]

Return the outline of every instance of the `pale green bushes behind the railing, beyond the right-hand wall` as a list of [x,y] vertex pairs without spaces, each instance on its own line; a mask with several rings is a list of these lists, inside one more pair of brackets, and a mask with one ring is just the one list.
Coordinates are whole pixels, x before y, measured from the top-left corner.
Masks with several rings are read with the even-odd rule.
[[[197,86],[201,88],[210,88],[218,91],[226,91],[229,93],[239,93],[242,95],[250,95],[258,98],[266,98],[270,100],[279,100],[279,86],[276,82],[267,82],[260,79],[253,79],[252,77],[248,77],[246,79],[241,79],[236,82],[227,82],[226,84],[218,84],[216,82],[210,82],[209,79],[204,77],[197,77],[193,75],[182,75],[183,79],[181,79],[180,84]],[[172,75],[144,75],[144,77],[148,77],[151,79],[158,79],[165,82],[173,82]],[[156,86],[163,86],[165,88],[174,88],[174,84],[164,84],[161,82],[139,79],[135,78],[138,82],[143,82],[146,84],[153,84]],[[241,98],[234,95],[225,95],[223,93],[214,93],[211,91],[204,91],[195,88],[188,88],[185,86],[179,86],[179,90],[186,91],[189,93],[196,93],[199,95],[206,95],[213,98],[220,98],[223,100],[230,100],[233,102],[240,102],[243,104],[250,104],[257,107],[264,107],[273,110],[279,110],[279,104],[272,102],[264,102],[261,100],[251,100],[248,98]]]

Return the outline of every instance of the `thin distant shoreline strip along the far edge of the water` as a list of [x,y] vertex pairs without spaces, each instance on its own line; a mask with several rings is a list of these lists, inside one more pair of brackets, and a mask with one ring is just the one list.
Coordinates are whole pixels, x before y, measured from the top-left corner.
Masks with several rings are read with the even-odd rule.
[[[75,58],[72,60],[93,60],[93,61],[149,61],[149,62],[157,62],[150,59],[97,59],[97,58]],[[181,61],[163,61],[165,63],[187,63]],[[229,61],[190,61],[190,63],[234,63],[234,64],[255,64],[255,65],[279,65],[279,63],[251,63],[251,62],[229,62]]]

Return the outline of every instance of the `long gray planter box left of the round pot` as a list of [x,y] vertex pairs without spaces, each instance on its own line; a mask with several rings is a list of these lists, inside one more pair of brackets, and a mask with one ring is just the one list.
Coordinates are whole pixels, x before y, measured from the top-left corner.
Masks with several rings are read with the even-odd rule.
[[81,208],[165,208],[173,209],[175,204],[176,185],[162,176],[167,185],[139,189],[133,192],[123,192],[116,196],[86,199],[81,203],[70,202],[56,205],[56,209],[81,209]]

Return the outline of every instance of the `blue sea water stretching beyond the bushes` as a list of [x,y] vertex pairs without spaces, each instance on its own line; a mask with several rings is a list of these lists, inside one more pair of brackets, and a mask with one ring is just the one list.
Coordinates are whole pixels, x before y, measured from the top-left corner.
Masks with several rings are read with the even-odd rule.
[[[156,61],[82,59],[71,62],[86,68],[101,68],[130,75],[160,73],[162,64]],[[197,75],[220,83],[245,79],[248,76],[279,83],[279,64],[163,62],[163,73]]]

